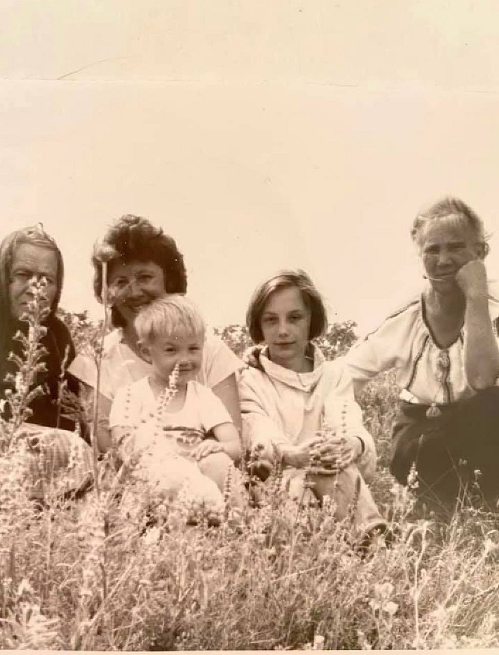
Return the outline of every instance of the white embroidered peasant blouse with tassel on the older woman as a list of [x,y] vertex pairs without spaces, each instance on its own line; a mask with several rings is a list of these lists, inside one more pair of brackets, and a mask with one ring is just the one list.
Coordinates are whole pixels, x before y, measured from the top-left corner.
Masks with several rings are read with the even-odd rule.
[[[498,338],[499,301],[489,296],[490,319]],[[441,348],[425,318],[422,296],[388,316],[346,355],[352,380],[365,383],[381,371],[396,370],[400,397],[411,403],[448,404],[475,394],[466,379],[463,328]]]

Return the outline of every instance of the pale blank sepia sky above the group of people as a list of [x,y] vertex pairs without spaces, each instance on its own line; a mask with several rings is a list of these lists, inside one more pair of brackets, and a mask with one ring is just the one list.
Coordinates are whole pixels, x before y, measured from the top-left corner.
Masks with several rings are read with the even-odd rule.
[[375,325],[447,193],[497,278],[496,0],[3,0],[0,26],[0,236],[43,222],[65,309],[99,315],[92,242],[124,213],[176,238],[213,325],[282,267]]

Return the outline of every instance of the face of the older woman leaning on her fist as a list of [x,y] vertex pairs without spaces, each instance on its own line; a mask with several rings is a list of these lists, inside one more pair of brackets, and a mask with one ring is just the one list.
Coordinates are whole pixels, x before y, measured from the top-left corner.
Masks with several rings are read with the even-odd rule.
[[455,287],[456,272],[473,259],[483,257],[483,243],[473,230],[450,215],[425,223],[418,234],[424,271],[435,290]]

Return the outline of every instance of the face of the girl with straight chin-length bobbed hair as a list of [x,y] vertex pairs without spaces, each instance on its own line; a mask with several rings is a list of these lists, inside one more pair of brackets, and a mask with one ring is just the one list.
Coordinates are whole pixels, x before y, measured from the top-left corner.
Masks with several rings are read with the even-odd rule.
[[295,286],[270,295],[263,308],[260,327],[272,362],[303,371],[310,320],[310,309]]

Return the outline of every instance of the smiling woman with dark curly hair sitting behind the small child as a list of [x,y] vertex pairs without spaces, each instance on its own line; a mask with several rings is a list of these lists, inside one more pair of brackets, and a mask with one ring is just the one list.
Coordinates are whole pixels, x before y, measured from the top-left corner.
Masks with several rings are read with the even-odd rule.
[[[103,266],[103,261],[107,266]],[[115,329],[105,337],[100,371],[100,415],[109,416],[117,390],[151,373],[138,346],[134,320],[139,310],[153,300],[171,293],[184,294],[187,274],[176,242],[147,219],[124,215],[96,242],[92,255],[94,292],[103,301],[103,288],[112,305]],[[103,280],[105,268],[107,280]],[[236,372],[244,366],[223,341],[206,338],[198,382],[212,388],[223,402],[237,428],[241,426]],[[92,358],[78,355],[71,373],[89,392],[96,386],[96,365]],[[98,435],[102,451],[109,449],[107,427]]]

